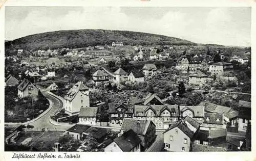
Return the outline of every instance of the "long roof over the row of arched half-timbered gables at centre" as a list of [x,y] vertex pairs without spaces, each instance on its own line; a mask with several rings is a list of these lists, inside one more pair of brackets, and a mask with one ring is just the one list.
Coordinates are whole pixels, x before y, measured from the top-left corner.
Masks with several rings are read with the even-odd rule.
[[[170,115],[172,117],[178,117],[179,116],[179,109],[178,105],[134,105],[134,116],[146,116],[146,111],[148,109],[151,109],[155,116],[161,116],[161,113],[164,110],[167,110],[170,112]],[[139,114],[141,112],[142,114]]]

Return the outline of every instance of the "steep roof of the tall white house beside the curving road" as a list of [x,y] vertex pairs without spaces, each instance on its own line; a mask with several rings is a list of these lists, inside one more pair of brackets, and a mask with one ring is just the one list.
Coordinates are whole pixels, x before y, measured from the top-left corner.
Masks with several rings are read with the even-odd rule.
[[70,90],[69,92],[65,95],[64,99],[67,99],[67,100],[70,100],[72,101],[76,94],[79,92],[79,91],[86,91],[86,90],[89,90],[89,88],[84,85],[81,81],[80,82],[77,82]]

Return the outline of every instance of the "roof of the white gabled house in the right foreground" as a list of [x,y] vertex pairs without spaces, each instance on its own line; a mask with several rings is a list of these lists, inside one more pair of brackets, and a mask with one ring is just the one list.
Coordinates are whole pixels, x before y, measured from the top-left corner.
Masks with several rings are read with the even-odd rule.
[[200,126],[200,124],[197,121],[190,118],[189,116],[186,116],[186,117],[182,118],[181,120],[177,121],[176,123],[174,123],[173,125],[171,125],[165,132],[167,132],[175,127],[178,127],[189,138],[193,138],[195,133],[199,129],[199,126]]

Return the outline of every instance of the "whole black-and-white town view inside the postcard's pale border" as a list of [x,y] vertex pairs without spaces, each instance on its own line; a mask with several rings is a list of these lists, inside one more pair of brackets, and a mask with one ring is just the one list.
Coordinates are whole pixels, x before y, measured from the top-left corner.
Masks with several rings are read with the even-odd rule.
[[5,6],[4,150],[251,151],[251,12]]

